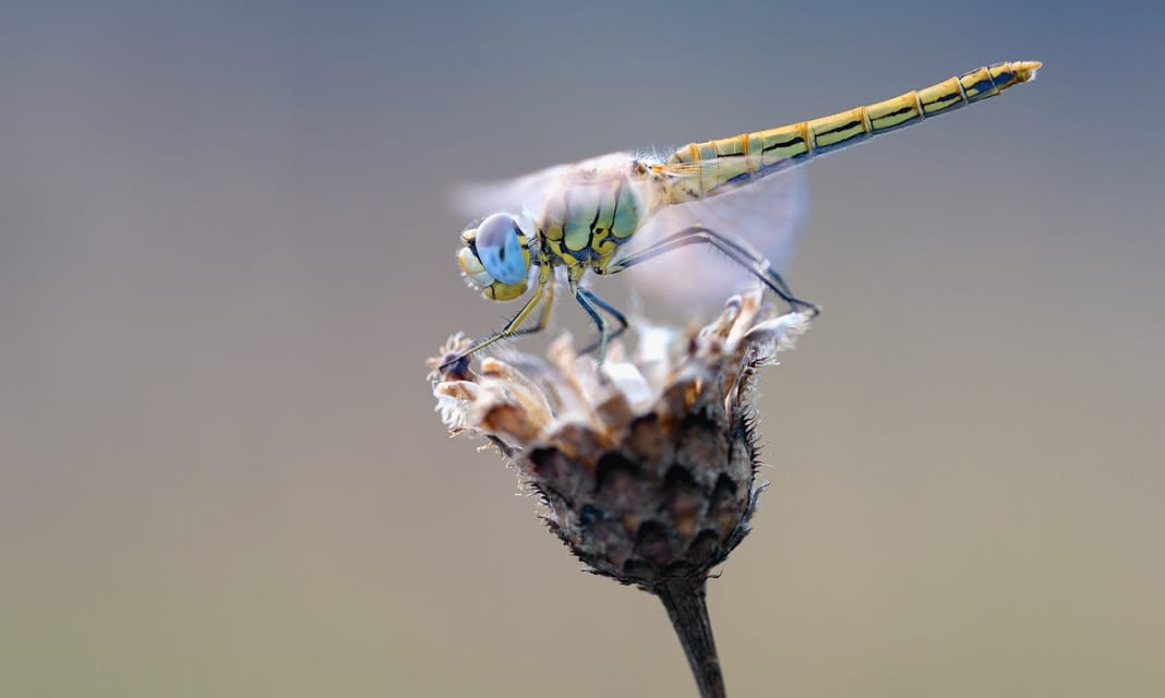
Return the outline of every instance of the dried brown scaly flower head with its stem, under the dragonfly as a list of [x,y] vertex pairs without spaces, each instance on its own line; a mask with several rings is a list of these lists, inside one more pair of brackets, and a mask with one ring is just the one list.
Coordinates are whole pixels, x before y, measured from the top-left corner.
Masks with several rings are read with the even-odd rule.
[[460,336],[430,360],[450,431],[488,437],[591,571],[664,600],[704,695],[722,695],[705,581],[748,534],[762,488],[756,369],[809,317],[778,315],[757,290],[697,332],[640,323],[634,355],[616,345],[601,369],[569,337],[549,362],[517,354],[482,359],[480,372],[468,361],[439,369],[468,345]]

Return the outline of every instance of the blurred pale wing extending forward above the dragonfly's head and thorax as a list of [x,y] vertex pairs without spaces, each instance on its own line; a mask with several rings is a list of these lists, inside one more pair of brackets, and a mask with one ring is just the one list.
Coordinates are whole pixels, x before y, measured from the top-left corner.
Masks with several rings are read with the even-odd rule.
[[538,213],[546,193],[556,185],[600,169],[630,163],[630,153],[612,153],[581,162],[556,164],[513,179],[461,184],[453,190],[453,209],[468,217],[490,213]]

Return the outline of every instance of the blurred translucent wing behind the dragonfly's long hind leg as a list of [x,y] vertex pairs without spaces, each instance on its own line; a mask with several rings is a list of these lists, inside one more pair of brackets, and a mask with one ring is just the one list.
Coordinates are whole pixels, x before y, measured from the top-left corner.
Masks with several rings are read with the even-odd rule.
[[[743,240],[784,274],[796,253],[809,213],[804,170],[775,172],[756,182],[654,213],[628,245],[627,253],[645,249],[693,225]],[[626,276],[649,306],[670,306],[691,316],[720,308],[725,299],[754,283],[747,269],[709,245],[675,249],[628,269]],[[789,281],[789,279],[785,279]],[[791,284],[797,290],[796,284]]]

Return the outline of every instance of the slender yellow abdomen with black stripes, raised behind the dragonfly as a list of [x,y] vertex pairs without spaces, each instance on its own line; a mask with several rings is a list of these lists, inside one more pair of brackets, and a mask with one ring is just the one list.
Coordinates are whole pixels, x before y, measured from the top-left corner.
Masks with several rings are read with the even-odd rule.
[[868,106],[768,131],[690,143],[668,158],[664,170],[698,168],[699,176],[673,181],[668,203],[704,198],[758,176],[870,136],[918,124],[937,114],[995,97],[1036,77],[1037,62],[996,63]]

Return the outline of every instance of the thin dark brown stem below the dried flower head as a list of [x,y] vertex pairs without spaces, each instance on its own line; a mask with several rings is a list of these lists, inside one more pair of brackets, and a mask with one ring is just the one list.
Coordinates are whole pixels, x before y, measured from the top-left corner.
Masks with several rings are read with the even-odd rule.
[[652,590],[671,619],[679,643],[684,646],[687,664],[696,676],[700,698],[725,698],[725,679],[720,674],[720,657],[712,637],[708,606],[705,601],[702,578],[665,581]]

